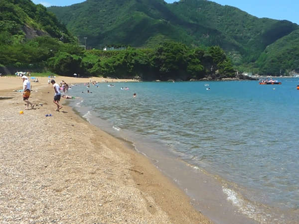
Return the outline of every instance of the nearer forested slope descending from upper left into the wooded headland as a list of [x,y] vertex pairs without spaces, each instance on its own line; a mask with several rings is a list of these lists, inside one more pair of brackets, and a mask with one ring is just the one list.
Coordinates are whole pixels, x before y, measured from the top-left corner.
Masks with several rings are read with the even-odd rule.
[[231,60],[219,46],[203,49],[163,41],[143,49],[86,50],[42,5],[5,0],[0,9],[0,73],[10,68],[162,81],[235,77]]

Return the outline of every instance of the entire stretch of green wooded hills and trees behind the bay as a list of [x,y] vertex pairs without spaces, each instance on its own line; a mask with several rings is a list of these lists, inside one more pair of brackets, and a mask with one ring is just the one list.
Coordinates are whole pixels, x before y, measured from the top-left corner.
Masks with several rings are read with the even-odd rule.
[[86,0],[48,9],[88,49],[127,49],[86,51],[41,4],[1,0],[0,66],[143,80],[233,77],[232,65],[271,75],[299,70],[297,24],[212,1]]

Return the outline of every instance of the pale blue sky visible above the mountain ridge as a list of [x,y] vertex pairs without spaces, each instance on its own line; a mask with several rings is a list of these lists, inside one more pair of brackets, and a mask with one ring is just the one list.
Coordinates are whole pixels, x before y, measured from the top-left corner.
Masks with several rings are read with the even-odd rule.
[[[65,6],[84,0],[32,0],[35,4]],[[165,0],[172,3],[175,0]],[[222,5],[230,5],[240,8],[251,15],[259,18],[268,17],[273,19],[287,19],[299,24],[299,1],[298,0],[213,0]]]

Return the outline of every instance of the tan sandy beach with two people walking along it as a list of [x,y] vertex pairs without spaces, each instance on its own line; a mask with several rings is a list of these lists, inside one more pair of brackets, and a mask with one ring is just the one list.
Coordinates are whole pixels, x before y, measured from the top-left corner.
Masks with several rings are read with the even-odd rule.
[[55,112],[48,78],[38,79],[29,98],[37,106],[24,111],[14,92],[22,80],[0,77],[0,223],[211,223],[126,142],[65,105]]

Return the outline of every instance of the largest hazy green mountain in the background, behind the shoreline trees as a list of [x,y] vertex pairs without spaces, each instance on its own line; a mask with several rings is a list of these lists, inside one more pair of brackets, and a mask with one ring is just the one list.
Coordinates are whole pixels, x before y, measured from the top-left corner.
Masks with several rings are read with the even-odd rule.
[[165,39],[189,46],[219,45],[235,65],[248,67],[257,66],[252,63],[267,46],[299,29],[287,20],[257,18],[208,0],[171,4],[163,0],[86,0],[48,10],[82,43],[87,37],[92,48],[119,44],[151,47]]

